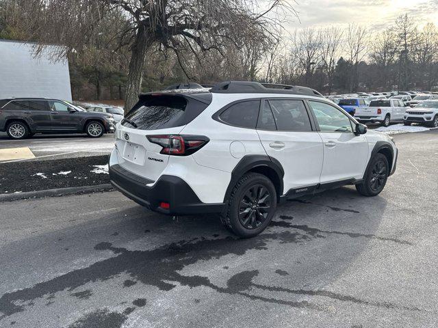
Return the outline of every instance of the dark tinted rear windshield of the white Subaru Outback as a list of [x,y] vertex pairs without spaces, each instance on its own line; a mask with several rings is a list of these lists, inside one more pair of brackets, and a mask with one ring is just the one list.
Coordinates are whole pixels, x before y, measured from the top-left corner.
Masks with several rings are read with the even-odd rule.
[[[211,98],[209,101],[211,102]],[[183,126],[192,122],[208,105],[209,103],[181,95],[141,96],[125,116],[122,125],[140,130]]]

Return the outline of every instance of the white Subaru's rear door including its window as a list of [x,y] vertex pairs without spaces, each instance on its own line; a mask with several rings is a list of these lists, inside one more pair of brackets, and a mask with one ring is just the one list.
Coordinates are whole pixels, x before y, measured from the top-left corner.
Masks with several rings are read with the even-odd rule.
[[257,133],[268,156],[284,168],[285,193],[306,193],[320,183],[322,140],[303,100],[262,100]]

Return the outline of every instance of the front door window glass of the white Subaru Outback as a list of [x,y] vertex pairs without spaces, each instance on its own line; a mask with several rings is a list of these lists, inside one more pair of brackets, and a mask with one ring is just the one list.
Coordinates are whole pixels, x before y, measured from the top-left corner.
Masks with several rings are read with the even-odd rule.
[[309,100],[321,132],[352,132],[351,121],[339,109],[325,102]]

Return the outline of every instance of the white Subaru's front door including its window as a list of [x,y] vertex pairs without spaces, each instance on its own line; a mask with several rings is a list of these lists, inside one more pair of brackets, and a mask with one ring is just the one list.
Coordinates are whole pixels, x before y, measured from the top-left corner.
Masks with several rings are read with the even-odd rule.
[[363,178],[368,163],[368,140],[365,135],[355,135],[355,123],[336,107],[318,100],[308,102],[324,143],[321,184]]

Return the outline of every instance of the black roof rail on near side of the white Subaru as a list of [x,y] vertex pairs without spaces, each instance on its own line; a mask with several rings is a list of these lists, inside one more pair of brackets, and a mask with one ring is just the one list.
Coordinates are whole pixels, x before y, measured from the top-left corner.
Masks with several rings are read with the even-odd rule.
[[306,96],[324,97],[318,91],[310,87],[300,87],[298,85],[285,85],[273,83],[259,83],[251,81],[225,81],[220,82],[211,88],[210,92],[222,94],[244,94],[244,93],[263,93],[263,94],[302,94]]

